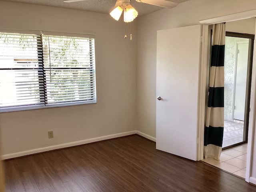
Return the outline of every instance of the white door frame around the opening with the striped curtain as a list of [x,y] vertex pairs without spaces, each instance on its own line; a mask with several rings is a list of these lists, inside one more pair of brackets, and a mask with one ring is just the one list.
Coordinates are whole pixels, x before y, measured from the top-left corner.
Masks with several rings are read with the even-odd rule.
[[[256,18],[256,10],[250,10],[246,12],[240,12],[230,14],[226,16],[220,16],[216,18],[210,18],[206,20],[200,20],[202,25],[202,51],[200,62],[200,76],[199,76],[199,90],[198,90],[198,160],[204,158],[204,119],[205,119],[205,106],[206,106],[206,93],[208,92],[208,86],[206,86],[207,67],[210,63],[210,53],[208,47],[209,44],[209,25],[230,22],[236,20],[242,20],[247,18]],[[255,29],[256,32],[256,29]],[[249,115],[249,130],[248,130],[248,147],[247,147],[247,161],[246,161],[246,182],[250,182],[251,166],[252,166],[252,146],[254,143],[254,129],[255,129],[255,114],[256,114],[256,43],[254,41],[254,53],[252,64],[252,84],[250,95],[250,115]],[[252,181],[252,183],[254,183]]]

